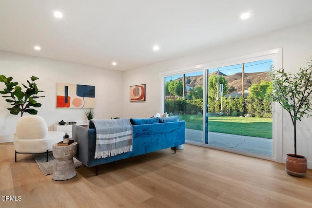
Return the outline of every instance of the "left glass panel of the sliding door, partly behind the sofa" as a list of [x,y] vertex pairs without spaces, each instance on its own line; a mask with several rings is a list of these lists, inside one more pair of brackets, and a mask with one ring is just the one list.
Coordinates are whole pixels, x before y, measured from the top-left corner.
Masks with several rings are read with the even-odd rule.
[[186,122],[186,140],[203,143],[203,72],[165,77],[165,112]]

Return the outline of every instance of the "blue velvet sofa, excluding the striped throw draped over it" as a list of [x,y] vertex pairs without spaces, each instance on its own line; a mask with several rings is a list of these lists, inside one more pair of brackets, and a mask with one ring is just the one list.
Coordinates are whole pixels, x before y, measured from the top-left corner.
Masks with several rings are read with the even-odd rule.
[[89,128],[74,125],[73,140],[78,142],[75,157],[87,167],[95,166],[98,175],[98,165],[183,145],[185,143],[185,121],[174,121],[173,117],[168,119],[131,118],[133,151],[99,159],[94,158],[96,129],[93,129],[91,124]]

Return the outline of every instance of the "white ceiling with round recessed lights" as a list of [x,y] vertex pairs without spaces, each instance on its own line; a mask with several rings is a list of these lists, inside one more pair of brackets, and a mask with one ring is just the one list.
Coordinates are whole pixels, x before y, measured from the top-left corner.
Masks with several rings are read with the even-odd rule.
[[[312,0],[0,0],[0,50],[125,71],[311,21],[311,8]],[[250,19],[240,19],[245,12]]]

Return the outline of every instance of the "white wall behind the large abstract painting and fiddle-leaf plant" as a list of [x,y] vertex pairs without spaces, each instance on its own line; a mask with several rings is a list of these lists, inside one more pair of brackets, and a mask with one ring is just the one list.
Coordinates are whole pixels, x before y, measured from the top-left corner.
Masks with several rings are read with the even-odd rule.
[[[60,120],[87,122],[83,109],[56,108],[58,82],[95,85],[95,118],[122,116],[122,72],[0,51],[0,75],[12,76],[13,81],[25,85],[30,76],[39,77],[36,80],[38,88],[45,91],[39,95],[45,97],[37,100],[42,104],[37,108],[38,115],[46,120],[50,131],[53,131],[53,125]],[[0,89],[4,87],[4,83],[0,82]],[[5,130],[0,128],[0,142],[13,141],[15,124],[20,117],[20,114],[10,114],[7,107],[10,105],[0,96],[0,127],[5,127]]]

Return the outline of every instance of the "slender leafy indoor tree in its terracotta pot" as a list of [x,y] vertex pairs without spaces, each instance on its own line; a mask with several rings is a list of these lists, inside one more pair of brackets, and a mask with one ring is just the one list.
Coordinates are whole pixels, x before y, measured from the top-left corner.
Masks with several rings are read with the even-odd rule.
[[294,131],[294,154],[286,155],[285,170],[289,175],[304,177],[307,157],[297,154],[296,121],[312,115],[312,60],[296,74],[280,69],[271,71],[271,76],[272,101],[278,102],[289,113]]

